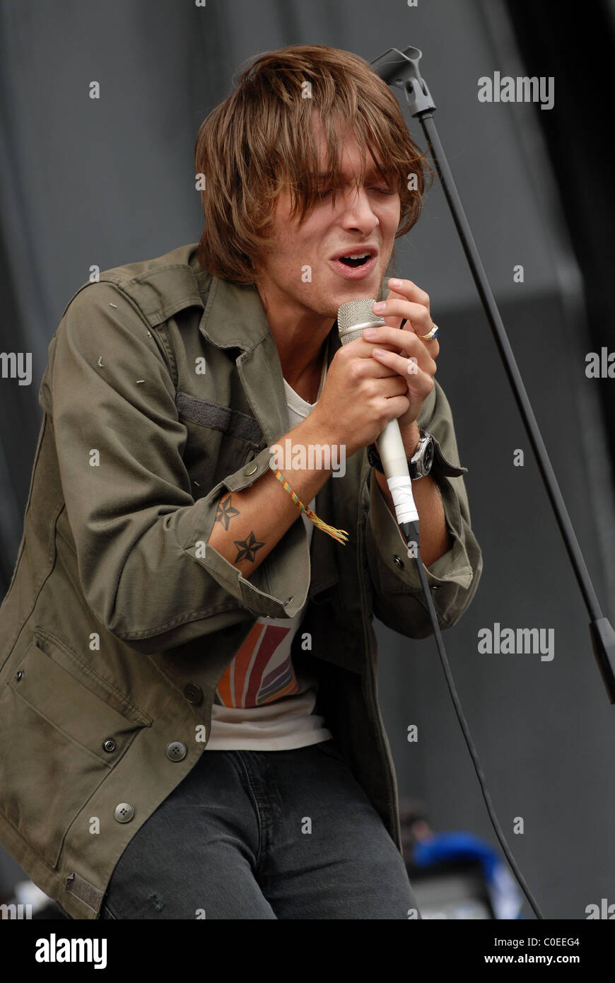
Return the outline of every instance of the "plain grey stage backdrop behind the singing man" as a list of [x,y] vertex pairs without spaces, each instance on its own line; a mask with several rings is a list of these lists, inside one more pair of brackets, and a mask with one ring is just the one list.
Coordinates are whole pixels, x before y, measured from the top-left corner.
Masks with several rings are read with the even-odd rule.
[[[4,590],[22,535],[47,345],[71,295],[100,269],[159,256],[200,235],[193,147],[249,56],[330,44],[367,60],[423,51],[475,240],[604,613],[615,618],[610,463],[592,381],[583,284],[539,127],[527,104],[483,104],[477,79],[524,74],[499,0],[56,0],[0,2],[0,222],[5,351],[32,353],[32,381],[1,380]],[[101,97],[88,97],[100,83]],[[557,99],[557,80],[555,85]],[[419,125],[410,130],[424,145]],[[574,130],[574,121],[571,121]],[[586,176],[589,180],[589,177]],[[484,557],[475,601],[444,635],[500,822],[543,914],[585,918],[615,900],[614,709],[587,614],[475,286],[437,182],[398,246],[401,275],[431,297],[438,380],[453,408]],[[513,266],[525,282],[513,282]],[[606,342],[605,342],[606,343]],[[513,452],[526,452],[513,466]],[[477,631],[555,631],[555,658],[479,655]],[[438,830],[496,842],[432,639],[376,624],[379,696],[400,791]],[[419,725],[418,743],[406,739]],[[514,817],[525,832],[513,834]],[[525,908],[531,915],[530,909]]]

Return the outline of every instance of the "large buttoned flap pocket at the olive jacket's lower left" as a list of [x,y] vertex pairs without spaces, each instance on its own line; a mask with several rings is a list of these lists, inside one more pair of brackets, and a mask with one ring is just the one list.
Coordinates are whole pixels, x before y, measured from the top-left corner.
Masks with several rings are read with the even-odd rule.
[[36,638],[16,662],[0,696],[0,809],[50,867],[76,815],[146,725],[92,692]]

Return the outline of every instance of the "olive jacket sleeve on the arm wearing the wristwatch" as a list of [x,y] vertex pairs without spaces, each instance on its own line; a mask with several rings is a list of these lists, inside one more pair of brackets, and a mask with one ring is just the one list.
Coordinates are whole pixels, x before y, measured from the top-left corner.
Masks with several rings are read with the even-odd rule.
[[[468,469],[459,464],[451,409],[437,381],[423,404],[418,423],[436,441],[431,474],[442,497],[452,543],[448,552],[431,566],[423,567],[438,624],[444,629],[456,624],[470,606],[482,572],[482,554],[472,531],[462,477]],[[431,635],[433,627],[420,586],[418,561],[408,555],[404,537],[373,473],[369,476],[365,536],[373,613],[387,627],[408,638]]]

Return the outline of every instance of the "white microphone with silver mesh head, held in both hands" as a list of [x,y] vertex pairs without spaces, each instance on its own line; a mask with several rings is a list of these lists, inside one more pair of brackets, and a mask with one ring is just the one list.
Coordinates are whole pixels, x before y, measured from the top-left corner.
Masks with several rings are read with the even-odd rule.
[[[338,309],[337,328],[343,345],[361,338],[365,327],[380,327],[386,324],[384,318],[371,311],[372,304],[375,304],[374,298],[348,301]],[[393,498],[397,521],[406,542],[410,544],[412,541],[418,547],[419,512],[415,505],[408,459],[397,420],[390,420],[378,436],[378,449],[386,483]]]

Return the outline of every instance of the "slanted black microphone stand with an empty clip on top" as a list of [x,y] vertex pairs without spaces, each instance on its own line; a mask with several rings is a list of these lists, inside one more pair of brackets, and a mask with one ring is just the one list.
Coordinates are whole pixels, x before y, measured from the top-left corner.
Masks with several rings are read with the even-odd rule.
[[615,631],[610,621],[604,617],[597,595],[587,572],[587,566],[581,547],[575,535],[566,503],[560,492],[551,466],[549,456],[538,429],[536,419],[531,409],[531,402],[524,385],[523,378],[510,346],[504,323],[495,303],[495,298],[489,286],[484,267],[478,255],[470,223],[464,211],[453,175],[451,173],[440,138],[433,122],[435,103],[425,82],[420,77],[419,59],[422,53],[419,48],[407,47],[404,51],[389,48],[384,54],[372,61],[371,68],[389,86],[403,88],[406,92],[411,116],[419,118],[420,126],[427,140],[431,158],[440,178],[446,201],[448,202],[453,221],[459,233],[466,258],[474,277],[476,290],[489,322],[491,332],[500,353],[504,369],[513,389],[519,412],[521,413],[528,438],[531,443],[540,476],[546,488],[551,507],[559,526],[564,545],[583,595],[583,600],[589,615],[589,635],[593,654],[595,656],[602,681],[610,702],[615,703]]

